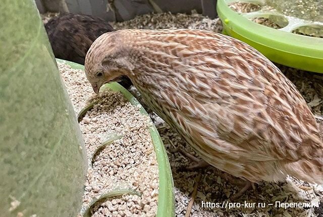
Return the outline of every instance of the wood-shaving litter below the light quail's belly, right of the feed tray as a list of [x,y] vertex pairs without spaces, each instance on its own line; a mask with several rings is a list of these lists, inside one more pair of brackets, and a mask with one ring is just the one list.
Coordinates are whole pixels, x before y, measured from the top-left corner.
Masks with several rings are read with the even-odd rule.
[[[219,170],[208,167],[195,172],[179,172],[177,169],[183,165],[193,165],[186,157],[177,152],[174,147],[184,149],[197,156],[194,151],[174,132],[168,125],[159,128],[159,133],[167,149],[176,194],[176,216],[185,216],[188,201],[193,191],[194,178],[200,174],[202,181],[198,186],[197,198],[193,204],[191,216],[315,216],[314,207],[311,208],[276,208],[266,205],[264,208],[205,208],[203,202],[227,201],[228,198],[237,193],[239,187],[222,180]],[[261,183],[257,187],[257,192],[249,190],[237,201],[244,204],[245,201],[252,203],[274,203],[281,202],[312,202],[322,200],[322,186],[311,185],[288,177],[284,183]]]

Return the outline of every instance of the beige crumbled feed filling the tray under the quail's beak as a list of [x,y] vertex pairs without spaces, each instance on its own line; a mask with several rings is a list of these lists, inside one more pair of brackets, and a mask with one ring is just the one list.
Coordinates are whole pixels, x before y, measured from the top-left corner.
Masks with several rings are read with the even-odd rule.
[[[76,113],[97,102],[80,122],[89,157],[83,205],[113,190],[131,189],[94,204],[93,216],[155,216],[158,198],[158,165],[149,130],[149,118],[123,94],[105,90],[92,94],[82,70],[58,64]],[[150,122],[151,123],[151,122]],[[119,138],[117,140],[114,140]],[[103,148],[106,141],[114,140]],[[93,163],[91,156],[93,156]],[[138,196],[139,195],[139,196]]]

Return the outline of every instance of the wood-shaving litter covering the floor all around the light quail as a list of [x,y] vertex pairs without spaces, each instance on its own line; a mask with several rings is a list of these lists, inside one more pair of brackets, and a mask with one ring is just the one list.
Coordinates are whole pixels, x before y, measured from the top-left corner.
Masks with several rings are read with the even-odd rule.
[[[199,17],[199,25],[197,28],[211,30],[216,32],[222,31],[221,21],[219,19],[210,20],[201,15],[171,15],[152,14],[138,16],[134,20],[123,23],[116,23],[114,26],[118,29],[123,28],[141,28],[141,29],[163,29],[163,28],[192,28]],[[204,22],[201,22],[204,20]],[[212,23],[212,25],[207,25]],[[323,113],[323,76],[320,74],[296,70],[278,65],[282,72],[297,86],[302,93],[309,107],[314,114],[321,116]],[[144,103],[140,94],[135,88],[132,93]],[[267,205],[264,208],[214,208],[209,209],[202,207],[204,202],[224,202],[228,197],[238,190],[239,187],[228,183],[221,179],[219,170],[208,167],[195,172],[181,172],[178,170],[184,165],[192,165],[193,162],[177,151],[181,148],[186,152],[196,156],[194,151],[174,132],[167,124],[163,122],[154,113],[150,113],[150,117],[154,120],[164,145],[167,149],[175,184],[176,199],[176,216],[185,216],[186,208],[193,192],[195,178],[200,175],[197,198],[193,204],[191,216],[323,216],[322,203],[319,207],[310,208],[276,208]],[[323,200],[323,187],[320,185],[311,185],[306,182],[298,181],[292,177],[288,177],[284,183],[261,183],[257,187],[257,193],[249,190],[243,197],[233,202],[265,202],[274,203],[281,202],[312,202],[317,205]]]

